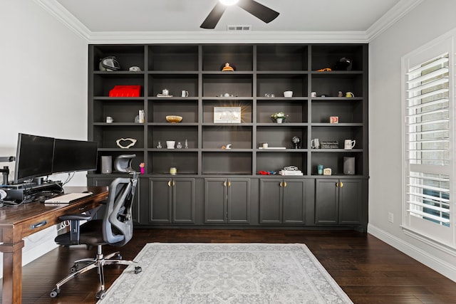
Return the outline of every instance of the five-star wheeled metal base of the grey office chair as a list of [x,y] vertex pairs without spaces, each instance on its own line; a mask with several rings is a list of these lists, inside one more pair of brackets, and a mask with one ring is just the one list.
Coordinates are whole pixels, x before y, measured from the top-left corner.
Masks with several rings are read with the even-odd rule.
[[[112,259],[113,256],[119,256],[119,259]],[[138,263],[135,261],[126,261],[122,260],[120,253],[114,252],[110,253],[108,256],[103,256],[102,245],[97,246],[97,255],[95,258],[83,258],[81,260],[75,261],[73,267],[70,268],[71,273],[63,278],[61,281],[56,283],[56,288],[54,288],[51,293],[49,294],[51,298],[56,298],[56,296],[61,291],[61,286],[68,281],[71,281],[76,276],[79,276],[86,271],[90,271],[93,268],[97,268],[98,276],[100,278],[100,290],[96,293],[95,298],[103,299],[105,297],[105,275],[103,273],[103,266],[104,265],[134,265],[135,266],[135,274],[140,273],[142,268],[138,266]],[[79,264],[84,263],[85,265],[82,268],[79,268]]]

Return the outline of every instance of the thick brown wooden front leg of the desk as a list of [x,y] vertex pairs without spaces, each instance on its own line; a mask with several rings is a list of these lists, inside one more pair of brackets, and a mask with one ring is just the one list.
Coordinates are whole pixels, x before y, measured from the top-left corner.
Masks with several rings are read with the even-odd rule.
[[14,245],[0,245],[0,251],[3,252],[3,292],[1,295],[3,304],[21,303],[23,247],[23,240]]

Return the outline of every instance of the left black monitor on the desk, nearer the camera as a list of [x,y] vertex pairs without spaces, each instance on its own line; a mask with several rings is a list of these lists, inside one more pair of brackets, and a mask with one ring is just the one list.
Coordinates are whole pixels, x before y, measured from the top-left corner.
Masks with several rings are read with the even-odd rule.
[[19,133],[14,182],[52,174],[54,139]]

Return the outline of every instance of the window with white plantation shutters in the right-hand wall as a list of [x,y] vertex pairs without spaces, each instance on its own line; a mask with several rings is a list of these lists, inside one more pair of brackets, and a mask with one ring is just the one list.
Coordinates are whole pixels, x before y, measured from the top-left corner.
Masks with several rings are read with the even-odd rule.
[[455,246],[453,37],[403,58],[403,228]]

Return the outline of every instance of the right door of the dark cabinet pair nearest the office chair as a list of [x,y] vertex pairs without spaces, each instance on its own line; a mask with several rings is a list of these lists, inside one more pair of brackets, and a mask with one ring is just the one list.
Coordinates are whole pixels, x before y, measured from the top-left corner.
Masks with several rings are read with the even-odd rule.
[[195,223],[195,179],[172,180],[172,222]]

